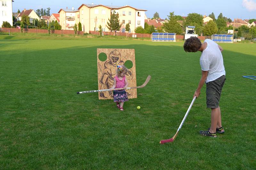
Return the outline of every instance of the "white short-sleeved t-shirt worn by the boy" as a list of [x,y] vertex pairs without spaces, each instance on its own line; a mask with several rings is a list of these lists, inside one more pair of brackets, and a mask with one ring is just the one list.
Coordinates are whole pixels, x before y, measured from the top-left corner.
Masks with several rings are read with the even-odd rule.
[[217,78],[226,75],[223,57],[218,47],[218,44],[210,39],[204,40],[207,43],[207,47],[203,50],[200,57],[200,65],[203,71],[208,70],[206,83],[216,80]]

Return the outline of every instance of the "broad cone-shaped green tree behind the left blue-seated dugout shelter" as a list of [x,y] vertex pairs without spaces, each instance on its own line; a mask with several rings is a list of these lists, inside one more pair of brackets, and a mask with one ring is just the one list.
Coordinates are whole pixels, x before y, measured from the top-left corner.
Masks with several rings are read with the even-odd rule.
[[163,29],[168,33],[177,33],[181,34],[183,32],[180,23],[177,22],[177,17],[174,15],[174,12],[170,12],[168,16],[168,22],[164,23]]

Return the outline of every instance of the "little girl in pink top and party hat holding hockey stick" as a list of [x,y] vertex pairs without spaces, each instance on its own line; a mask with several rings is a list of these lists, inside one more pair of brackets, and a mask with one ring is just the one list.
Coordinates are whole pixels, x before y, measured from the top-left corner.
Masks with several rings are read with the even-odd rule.
[[[116,77],[114,78],[114,85],[110,89],[114,88],[126,88],[128,86],[128,81],[125,78],[125,74],[127,73],[127,68],[125,66],[117,65],[116,69]],[[123,111],[123,105],[125,101],[128,101],[127,94],[125,90],[114,90],[113,92],[114,102],[116,102],[116,106]]]

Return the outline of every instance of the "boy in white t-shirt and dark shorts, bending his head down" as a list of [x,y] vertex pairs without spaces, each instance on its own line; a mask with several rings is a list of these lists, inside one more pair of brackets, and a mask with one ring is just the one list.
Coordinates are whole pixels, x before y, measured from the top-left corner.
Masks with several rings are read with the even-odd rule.
[[186,52],[202,52],[200,57],[202,77],[193,97],[199,97],[201,88],[206,83],[206,105],[211,108],[211,127],[199,133],[204,136],[217,137],[216,132],[224,133],[219,107],[226,75],[221,54],[223,49],[210,39],[206,39],[202,44],[197,37],[188,38],[183,47]]

